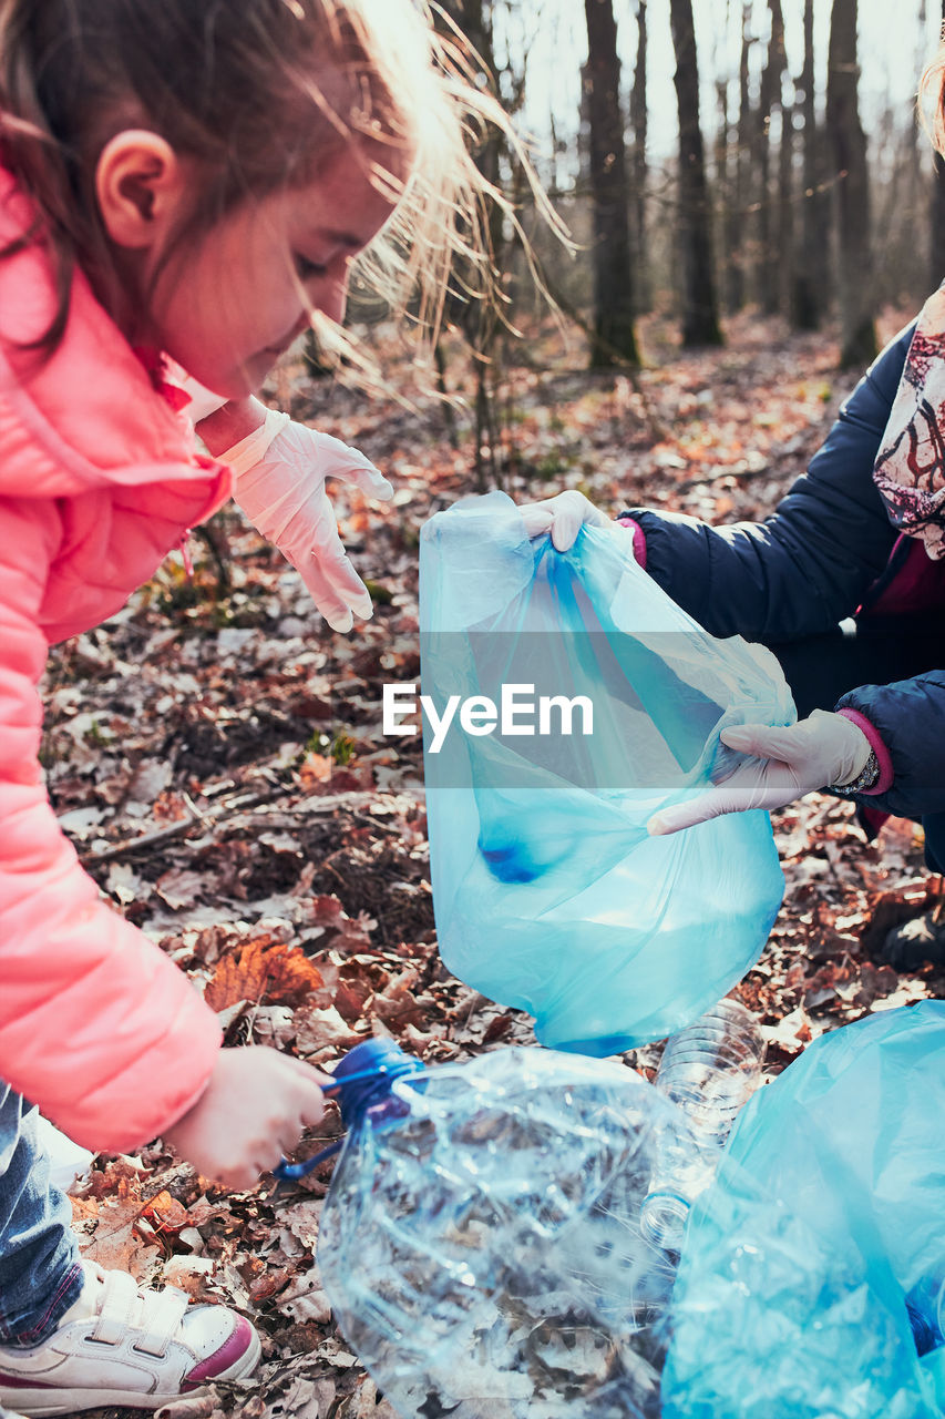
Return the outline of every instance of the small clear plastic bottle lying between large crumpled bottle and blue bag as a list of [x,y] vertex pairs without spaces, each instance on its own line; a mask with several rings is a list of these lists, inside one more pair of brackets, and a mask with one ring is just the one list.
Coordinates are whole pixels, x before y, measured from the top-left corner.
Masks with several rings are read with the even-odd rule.
[[711,1183],[735,1117],[761,1083],[765,1042],[751,1010],[719,1000],[670,1036],[656,1087],[687,1115],[691,1135],[665,1135],[643,1203],[643,1235],[678,1252],[694,1200]]

